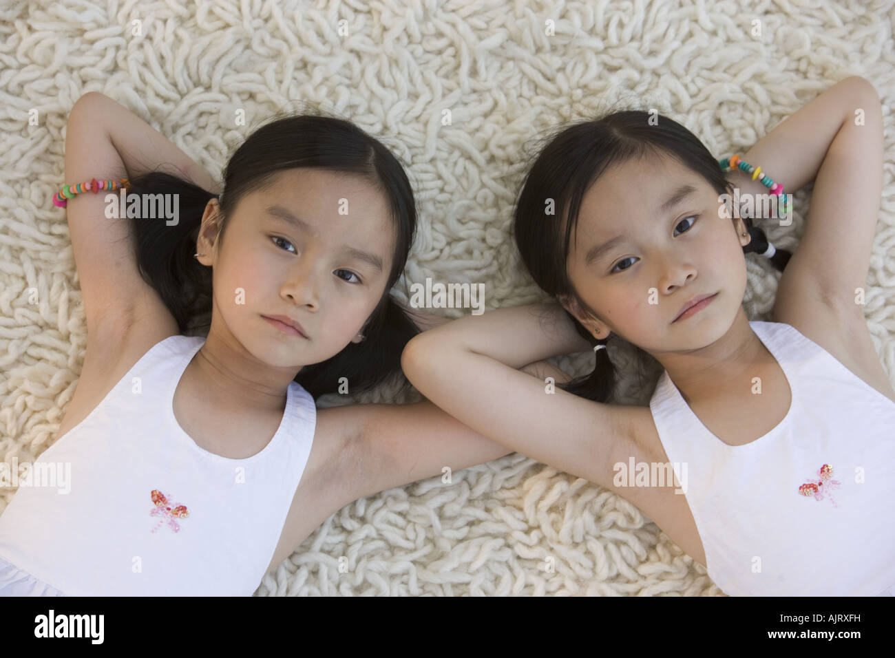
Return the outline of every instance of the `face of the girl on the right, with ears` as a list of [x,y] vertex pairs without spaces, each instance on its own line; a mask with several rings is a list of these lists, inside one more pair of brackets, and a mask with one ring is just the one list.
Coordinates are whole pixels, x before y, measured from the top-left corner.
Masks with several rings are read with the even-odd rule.
[[[692,191],[677,197],[678,190]],[[643,158],[609,167],[584,194],[567,272],[578,295],[560,302],[595,338],[609,331],[653,356],[710,345],[733,324],[746,291],[750,237],[705,180],[674,158]],[[743,237],[742,233],[746,233]],[[621,236],[618,243],[599,247]],[[681,308],[718,295],[688,318]]]

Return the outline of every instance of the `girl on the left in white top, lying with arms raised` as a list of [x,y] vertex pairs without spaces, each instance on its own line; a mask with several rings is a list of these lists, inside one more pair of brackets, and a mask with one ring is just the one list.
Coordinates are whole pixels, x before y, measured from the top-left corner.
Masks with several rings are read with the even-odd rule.
[[[87,350],[61,438],[0,517],[0,594],[252,594],[349,502],[509,452],[430,402],[315,409],[397,372],[416,332],[388,295],[411,187],[353,124],[262,126],[216,193],[94,92],[72,108],[65,179]],[[184,335],[209,312],[207,338]],[[37,481],[56,468],[64,485]]]

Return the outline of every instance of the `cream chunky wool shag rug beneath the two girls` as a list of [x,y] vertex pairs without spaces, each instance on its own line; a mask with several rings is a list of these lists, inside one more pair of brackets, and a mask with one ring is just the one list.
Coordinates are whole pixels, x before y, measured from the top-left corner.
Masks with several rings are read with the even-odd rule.
[[[611,107],[655,107],[720,158],[747,150],[834,82],[864,75],[887,125],[865,313],[895,373],[891,1],[10,5],[0,9],[4,461],[52,444],[81,372],[81,292],[64,210],[50,199],[64,183],[68,113],[90,90],[132,108],[218,179],[228,153],[269,115],[310,102],[353,120],[405,162],[419,202],[419,237],[396,294],[406,301],[409,284],[426,278],[481,282],[493,309],[543,298],[507,236],[526,161],[551,128]],[[234,125],[237,109],[245,125]],[[792,226],[770,226],[784,249],[802,235],[807,192],[796,196]],[[779,275],[753,255],[747,267],[746,311],[770,320]],[[609,355],[635,372],[630,346],[610,344]],[[589,359],[558,363],[581,372]],[[625,376],[627,402],[647,404],[660,371],[646,365],[649,379]],[[381,390],[362,401],[413,399]],[[0,490],[0,507],[12,495]],[[356,501],[257,594],[722,593],[626,500],[512,455],[450,485],[436,477]]]

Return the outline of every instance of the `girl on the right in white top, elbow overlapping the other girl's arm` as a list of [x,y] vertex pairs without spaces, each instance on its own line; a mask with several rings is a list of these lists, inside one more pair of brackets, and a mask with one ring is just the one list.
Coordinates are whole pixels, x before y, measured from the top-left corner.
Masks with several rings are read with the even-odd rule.
[[[630,500],[728,594],[880,594],[895,584],[895,391],[862,305],[880,100],[862,78],[841,81],[749,164],[735,159],[730,180],[691,132],[651,118],[569,127],[527,175],[516,243],[561,307],[426,331],[405,347],[405,374],[490,439]],[[754,237],[722,196],[778,192],[759,163],[787,192],[816,175],[773,321],[746,318]],[[611,333],[664,367],[649,408],[608,404]],[[555,392],[513,371],[588,346],[592,375]]]

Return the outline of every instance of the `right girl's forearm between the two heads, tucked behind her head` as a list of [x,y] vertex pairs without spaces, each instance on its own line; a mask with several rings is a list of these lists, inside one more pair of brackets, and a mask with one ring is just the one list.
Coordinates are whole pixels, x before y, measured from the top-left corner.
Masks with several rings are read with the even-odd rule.
[[555,302],[469,315],[424,331],[410,342],[417,346],[430,343],[433,354],[448,355],[455,349],[464,349],[490,356],[516,370],[551,356],[584,352],[591,347]]

